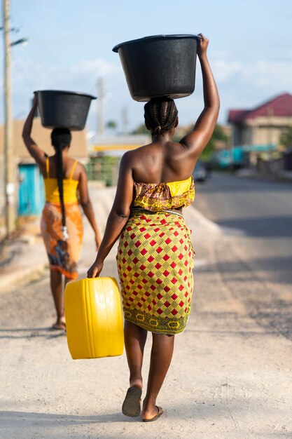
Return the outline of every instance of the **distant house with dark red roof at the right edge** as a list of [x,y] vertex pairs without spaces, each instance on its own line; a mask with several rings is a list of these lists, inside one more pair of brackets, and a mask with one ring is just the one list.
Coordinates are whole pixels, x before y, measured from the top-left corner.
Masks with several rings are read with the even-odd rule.
[[230,109],[231,146],[279,145],[283,130],[292,126],[292,95],[284,93],[253,109]]

